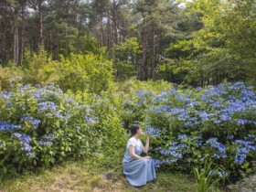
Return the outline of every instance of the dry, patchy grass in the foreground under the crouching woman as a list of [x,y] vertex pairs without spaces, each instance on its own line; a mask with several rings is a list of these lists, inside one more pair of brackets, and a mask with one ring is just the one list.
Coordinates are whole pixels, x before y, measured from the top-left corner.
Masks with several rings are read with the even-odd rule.
[[[116,165],[116,164],[115,164]],[[0,186],[1,192],[60,192],[60,191],[196,191],[195,180],[191,176],[156,172],[157,182],[144,187],[132,187],[122,173],[122,164],[100,165],[97,161],[85,160],[67,162],[34,174],[25,174],[7,179]]]

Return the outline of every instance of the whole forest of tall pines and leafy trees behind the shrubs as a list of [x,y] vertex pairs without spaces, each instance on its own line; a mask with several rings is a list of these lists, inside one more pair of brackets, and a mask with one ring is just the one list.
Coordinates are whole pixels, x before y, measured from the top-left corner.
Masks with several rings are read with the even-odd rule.
[[[5,0],[0,4],[0,64],[13,66],[10,73],[26,73],[71,54],[92,54],[112,63],[115,80],[255,83],[255,27],[253,0]],[[47,62],[32,66],[31,54],[40,48]],[[44,70],[53,76],[54,69]],[[39,75],[31,72],[25,81]]]

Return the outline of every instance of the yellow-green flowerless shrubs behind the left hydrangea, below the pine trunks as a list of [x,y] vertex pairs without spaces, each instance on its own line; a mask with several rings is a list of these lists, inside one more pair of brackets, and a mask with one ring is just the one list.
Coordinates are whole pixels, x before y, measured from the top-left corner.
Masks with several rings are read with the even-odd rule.
[[[103,50],[101,50],[103,52]],[[47,85],[59,84],[63,91],[90,91],[100,93],[107,90],[113,82],[112,61],[101,54],[71,54],[60,61],[49,58],[43,48],[38,54],[27,52],[23,68],[1,68],[2,89],[9,88],[10,79],[21,77],[19,82]]]

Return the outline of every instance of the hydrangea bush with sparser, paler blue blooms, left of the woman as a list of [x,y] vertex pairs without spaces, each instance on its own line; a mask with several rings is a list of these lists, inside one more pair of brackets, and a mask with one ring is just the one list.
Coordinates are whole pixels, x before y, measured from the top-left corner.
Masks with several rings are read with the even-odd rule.
[[115,110],[99,100],[86,93],[63,93],[53,84],[1,92],[1,176],[93,155],[113,134],[122,138]]

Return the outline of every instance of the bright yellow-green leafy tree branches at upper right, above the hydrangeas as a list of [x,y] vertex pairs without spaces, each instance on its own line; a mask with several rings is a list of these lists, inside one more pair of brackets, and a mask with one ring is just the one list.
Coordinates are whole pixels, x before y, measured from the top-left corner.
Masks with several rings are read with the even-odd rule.
[[203,26],[165,50],[167,67],[162,70],[174,82],[195,86],[225,80],[253,84],[254,9],[251,0],[187,2],[187,13],[197,15]]

